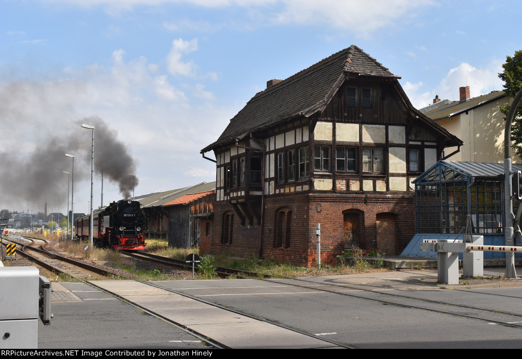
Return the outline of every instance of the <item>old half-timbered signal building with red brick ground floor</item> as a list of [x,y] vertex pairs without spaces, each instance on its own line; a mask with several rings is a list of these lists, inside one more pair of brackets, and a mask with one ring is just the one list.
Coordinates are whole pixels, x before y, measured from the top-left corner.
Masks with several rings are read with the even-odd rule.
[[311,266],[354,246],[395,255],[415,233],[410,183],[457,137],[411,105],[400,77],[352,45],[270,80],[201,150],[216,158],[208,251]]

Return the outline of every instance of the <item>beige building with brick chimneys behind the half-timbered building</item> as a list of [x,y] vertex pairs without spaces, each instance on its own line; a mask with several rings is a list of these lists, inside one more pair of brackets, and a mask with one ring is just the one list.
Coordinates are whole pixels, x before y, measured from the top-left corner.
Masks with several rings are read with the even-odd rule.
[[[460,101],[440,101],[437,96],[433,104],[419,110],[464,141],[460,151],[457,147],[446,148],[443,157],[448,161],[503,162],[505,122],[499,106],[513,99],[503,91],[470,98],[469,86],[461,87],[459,92]],[[513,162],[520,163],[511,152]]]

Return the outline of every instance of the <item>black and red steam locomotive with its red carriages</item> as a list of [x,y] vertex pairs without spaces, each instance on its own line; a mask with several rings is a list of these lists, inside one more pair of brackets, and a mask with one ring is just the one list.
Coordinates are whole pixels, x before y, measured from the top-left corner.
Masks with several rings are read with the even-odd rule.
[[[89,238],[90,214],[76,220],[76,236]],[[93,213],[92,241],[103,247],[118,250],[145,249],[143,236],[147,217],[138,201],[131,199],[112,202]]]

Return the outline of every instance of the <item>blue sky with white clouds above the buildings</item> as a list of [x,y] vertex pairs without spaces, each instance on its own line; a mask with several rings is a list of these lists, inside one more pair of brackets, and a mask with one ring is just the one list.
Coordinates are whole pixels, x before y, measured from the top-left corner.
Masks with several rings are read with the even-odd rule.
[[[351,44],[402,76],[417,107],[435,95],[458,99],[460,86],[470,86],[472,97],[500,90],[502,63],[522,49],[518,4],[0,0],[0,121],[7,134],[0,181],[14,178],[21,190],[39,186],[21,176],[26,173],[17,164],[42,165],[30,159],[43,145],[70,136],[85,142],[77,156],[88,156],[90,133],[76,123],[93,116],[115,130],[134,157],[136,194],[213,181],[213,163],[199,150],[267,80],[287,78]],[[69,170],[65,157],[46,159],[50,172]],[[87,212],[89,171],[82,167],[90,163],[77,162],[75,211]],[[95,207],[99,179],[95,175]],[[65,178],[58,189],[39,188],[37,201],[4,185],[11,195],[0,198],[0,207],[43,211],[43,201],[57,208],[60,199],[65,212],[63,185]],[[120,198],[117,186],[105,181],[105,204]]]

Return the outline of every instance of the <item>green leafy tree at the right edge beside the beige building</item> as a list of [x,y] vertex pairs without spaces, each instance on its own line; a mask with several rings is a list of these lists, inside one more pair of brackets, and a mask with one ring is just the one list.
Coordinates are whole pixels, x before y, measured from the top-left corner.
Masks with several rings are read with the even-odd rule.
[[[506,56],[506,62],[502,67],[504,71],[499,74],[499,77],[505,83],[504,92],[513,99],[522,88],[522,50],[516,51],[513,57]],[[504,121],[510,107],[509,103],[500,106],[500,111],[505,115]],[[516,121],[521,115],[522,104],[517,107],[511,127],[511,140],[514,142],[513,148],[518,157],[522,159],[522,121]]]

